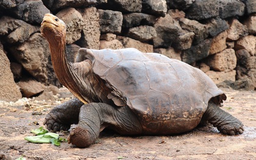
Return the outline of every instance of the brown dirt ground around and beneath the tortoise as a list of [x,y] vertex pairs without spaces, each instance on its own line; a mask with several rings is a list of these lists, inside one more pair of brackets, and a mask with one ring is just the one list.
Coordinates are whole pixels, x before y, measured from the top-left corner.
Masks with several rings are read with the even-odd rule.
[[55,100],[0,102],[0,159],[256,159],[256,92],[223,90],[228,99],[222,108],[244,123],[241,135],[225,136],[212,126],[174,136],[125,137],[104,131],[95,144],[82,149],[66,142],[56,147],[24,140],[33,135],[31,129],[43,126],[51,108],[71,99],[66,89]]

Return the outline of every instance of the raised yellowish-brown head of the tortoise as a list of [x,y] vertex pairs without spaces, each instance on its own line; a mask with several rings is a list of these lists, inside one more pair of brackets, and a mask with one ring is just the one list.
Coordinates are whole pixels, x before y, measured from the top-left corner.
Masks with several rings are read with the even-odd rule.
[[40,28],[41,34],[49,43],[56,43],[58,41],[65,41],[66,38],[66,24],[50,13],[44,15]]

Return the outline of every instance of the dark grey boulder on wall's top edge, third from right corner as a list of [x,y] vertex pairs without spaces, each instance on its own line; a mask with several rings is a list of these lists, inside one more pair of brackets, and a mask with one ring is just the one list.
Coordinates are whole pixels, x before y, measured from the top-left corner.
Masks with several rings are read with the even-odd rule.
[[208,19],[219,15],[218,1],[197,0],[191,4],[190,9],[185,10],[188,19]]

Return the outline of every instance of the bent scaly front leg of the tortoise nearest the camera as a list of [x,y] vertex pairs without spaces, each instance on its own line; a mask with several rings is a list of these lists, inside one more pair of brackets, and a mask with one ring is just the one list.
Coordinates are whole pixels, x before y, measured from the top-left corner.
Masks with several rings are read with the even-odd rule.
[[68,142],[79,148],[88,147],[106,127],[120,134],[142,133],[140,122],[128,106],[116,108],[105,103],[89,103],[81,107],[79,123],[70,131]]

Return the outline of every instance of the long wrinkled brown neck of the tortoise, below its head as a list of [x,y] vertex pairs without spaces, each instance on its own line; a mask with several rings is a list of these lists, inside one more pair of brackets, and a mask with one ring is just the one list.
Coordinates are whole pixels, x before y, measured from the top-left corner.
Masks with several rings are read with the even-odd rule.
[[[68,88],[74,96],[84,103],[110,101],[107,98],[110,89],[105,87],[104,82],[99,77],[94,77],[96,75],[91,72],[90,60],[85,60],[84,63],[80,64],[69,61],[64,37],[62,40],[49,41],[49,46],[54,72],[60,83]],[[83,74],[80,75],[80,68],[87,71],[83,70]],[[84,72],[87,72],[87,74],[85,75]],[[83,82],[88,85],[84,85]],[[98,95],[95,91],[102,92],[99,92]]]

